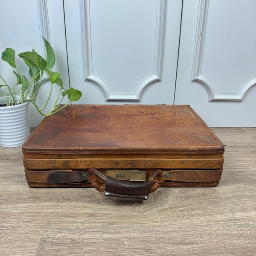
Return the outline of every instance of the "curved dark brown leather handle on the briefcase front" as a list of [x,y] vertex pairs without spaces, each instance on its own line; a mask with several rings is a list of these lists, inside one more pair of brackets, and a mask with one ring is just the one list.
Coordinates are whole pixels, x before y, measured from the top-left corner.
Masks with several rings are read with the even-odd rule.
[[157,190],[165,180],[164,174],[161,170],[156,170],[148,180],[143,183],[131,183],[116,180],[112,177],[107,177],[99,172],[97,169],[90,168],[86,172],[87,180],[98,191],[104,192],[106,196],[119,198],[136,198],[148,199],[151,192]]

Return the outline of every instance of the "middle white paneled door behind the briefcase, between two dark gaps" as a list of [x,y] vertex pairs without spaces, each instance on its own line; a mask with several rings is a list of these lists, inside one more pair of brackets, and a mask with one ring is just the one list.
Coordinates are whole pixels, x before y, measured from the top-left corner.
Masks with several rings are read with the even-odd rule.
[[173,104],[182,1],[64,0],[64,8],[81,103]]

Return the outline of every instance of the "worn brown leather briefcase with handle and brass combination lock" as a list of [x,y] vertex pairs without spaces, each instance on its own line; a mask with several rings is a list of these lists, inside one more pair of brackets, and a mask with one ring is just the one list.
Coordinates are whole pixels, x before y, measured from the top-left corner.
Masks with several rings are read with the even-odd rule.
[[22,150],[31,187],[141,199],[160,186],[217,186],[224,162],[224,145],[188,105],[69,105]]

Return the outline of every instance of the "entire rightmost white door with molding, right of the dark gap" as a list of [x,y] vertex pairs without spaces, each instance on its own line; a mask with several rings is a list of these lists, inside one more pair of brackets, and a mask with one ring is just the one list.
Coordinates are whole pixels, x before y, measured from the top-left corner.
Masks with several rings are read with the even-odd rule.
[[255,9],[253,0],[183,1],[175,104],[210,126],[256,126]]

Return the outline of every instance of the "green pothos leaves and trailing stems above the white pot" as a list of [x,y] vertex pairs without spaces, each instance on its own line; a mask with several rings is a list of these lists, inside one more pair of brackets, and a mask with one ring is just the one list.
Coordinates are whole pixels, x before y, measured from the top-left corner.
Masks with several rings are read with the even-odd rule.
[[[44,59],[41,55],[35,52],[34,49],[32,49],[32,52],[22,52],[18,55],[20,58],[23,59],[26,66],[29,68],[29,74],[31,76],[31,79],[28,79],[26,76],[22,75],[18,70],[15,62],[15,50],[12,48],[6,48],[3,51],[2,60],[8,62],[11,67],[15,68],[15,70],[13,70],[13,73],[17,78],[17,82],[14,86],[10,86],[0,74],[0,78],[3,82],[3,84],[0,82],[0,92],[4,96],[6,106],[18,105],[24,102],[31,102],[42,116],[50,116],[65,108],[70,102],[79,100],[82,93],[81,91],[76,90],[72,87],[66,90],[63,86],[63,81],[60,78],[61,74],[51,71],[52,67],[54,67],[55,65],[55,54],[49,42],[45,38],[43,39],[47,55],[46,59]],[[51,86],[49,88],[49,95],[45,101],[44,106],[42,108],[39,108],[36,104],[36,99],[42,85],[44,72],[49,77]],[[55,103],[49,113],[43,113],[43,111],[47,107],[50,96],[52,95],[52,88],[54,84],[59,87],[58,95],[55,98]],[[66,97],[68,98],[67,103],[59,107],[61,102]]]

